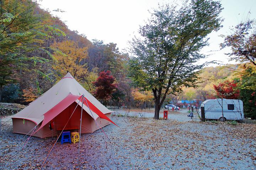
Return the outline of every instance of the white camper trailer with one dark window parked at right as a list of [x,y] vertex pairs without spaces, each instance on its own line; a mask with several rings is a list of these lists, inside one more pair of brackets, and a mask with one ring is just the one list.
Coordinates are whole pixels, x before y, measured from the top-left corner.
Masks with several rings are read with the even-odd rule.
[[[222,105],[223,105],[223,117],[222,118]],[[206,119],[219,119],[225,120],[243,120],[244,109],[241,100],[233,99],[213,99],[206,100],[201,104],[204,107],[204,113]]]

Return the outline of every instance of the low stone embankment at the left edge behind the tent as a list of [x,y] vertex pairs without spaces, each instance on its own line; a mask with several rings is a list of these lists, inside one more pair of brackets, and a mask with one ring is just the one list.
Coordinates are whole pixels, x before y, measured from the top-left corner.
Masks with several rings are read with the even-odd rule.
[[0,103],[0,116],[12,115],[20,112],[26,106],[17,103]]

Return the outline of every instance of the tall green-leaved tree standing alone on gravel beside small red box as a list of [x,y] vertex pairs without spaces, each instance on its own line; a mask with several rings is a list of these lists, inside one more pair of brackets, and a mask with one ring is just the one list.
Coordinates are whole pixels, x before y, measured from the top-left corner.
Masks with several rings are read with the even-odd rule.
[[153,91],[155,119],[166,95],[196,86],[197,71],[205,66],[198,64],[205,57],[199,51],[208,45],[207,35],[220,28],[221,11],[220,2],[213,0],[186,1],[179,10],[160,7],[130,42],[135,55],[130,74],[138,86]]

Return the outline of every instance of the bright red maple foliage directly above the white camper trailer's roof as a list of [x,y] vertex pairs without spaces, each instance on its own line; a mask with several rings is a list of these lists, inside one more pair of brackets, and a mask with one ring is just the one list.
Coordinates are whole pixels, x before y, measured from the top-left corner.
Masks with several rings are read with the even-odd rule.
[[219,85],[213,85],[217,96],[225,99],[238,99],[240,91],[237,89],[237,83],[235,81],[223,81]]

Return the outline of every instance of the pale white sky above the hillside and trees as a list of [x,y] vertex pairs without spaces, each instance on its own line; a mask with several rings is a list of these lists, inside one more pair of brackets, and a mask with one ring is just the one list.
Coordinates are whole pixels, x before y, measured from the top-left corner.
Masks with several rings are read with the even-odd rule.
[[[85,34],[89,40],[98,39],[105,43],[114,42],[119,51],[129,46],[128,41],[137,34],[139,25],[150,17],[149,11],[158,8],[158,4],[171,4],[173,0],[42,0],[38,3],[48,9],[53,16],[58,16],[71,30]],[[179,2],[179,1],[177,1]],[[256,18],[256,0],[222,0],[224,7],[221,16],[224,18],[217,33],[209,35],[209,46],[202,53],[210,55],[206,61],[219,60],[229,62],[225,53],[220,50],[223,38],[219,35],[230,34],[230,27],[236,26],[246,18]],[[54,12],[61,9],[65,12]],[[250,11],[250,14],[249,14]],[[248,16],[249,14],[249,16]]]

